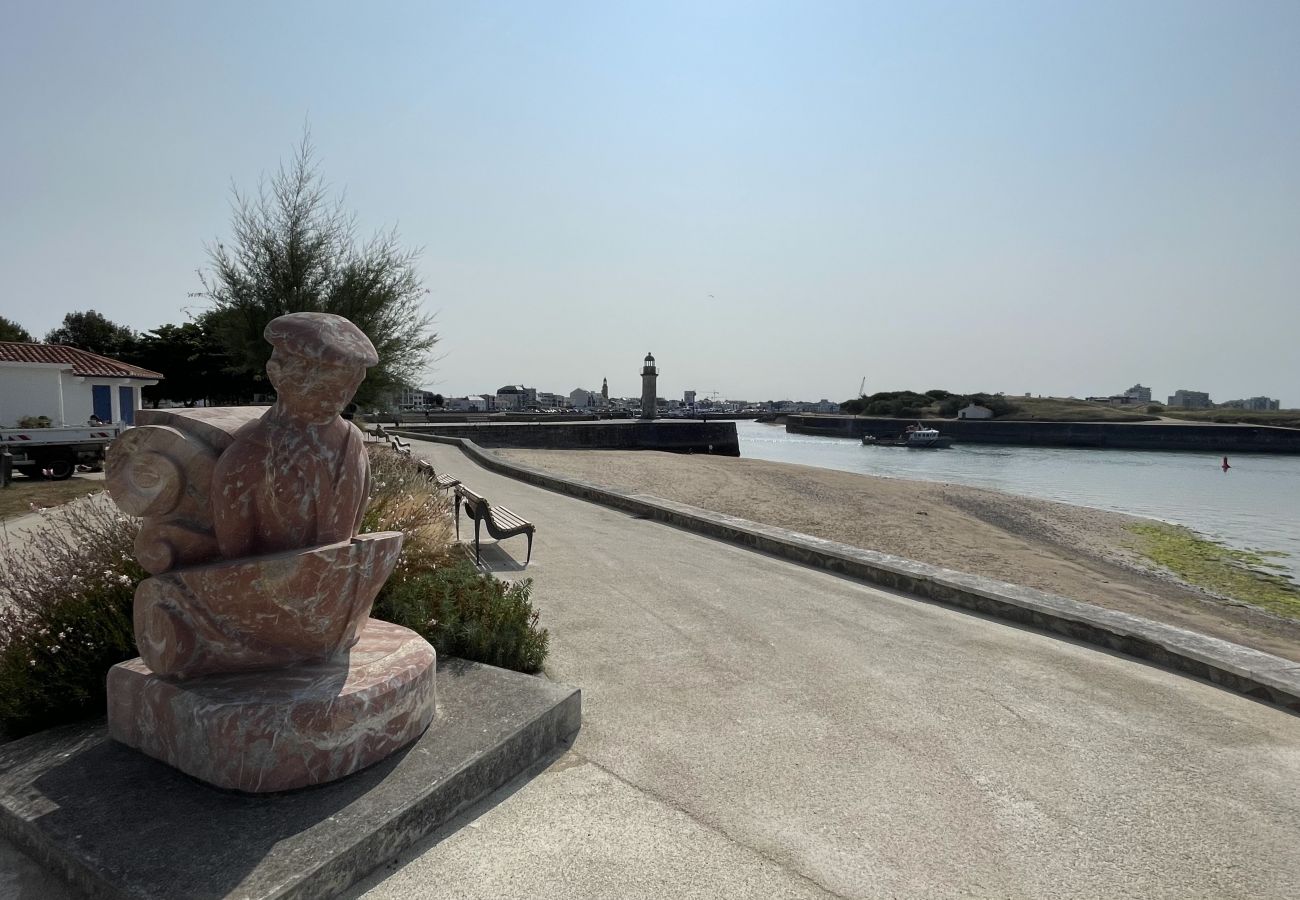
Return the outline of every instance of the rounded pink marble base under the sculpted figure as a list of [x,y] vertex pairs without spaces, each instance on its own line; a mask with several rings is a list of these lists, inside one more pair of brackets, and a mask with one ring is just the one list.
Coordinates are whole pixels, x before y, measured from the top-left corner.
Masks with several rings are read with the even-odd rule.
[[108,672],[108,731],[221,788],[322,784],[424,732],[436,661],[413,631],[377,619],[334,662],[169,682],[131,659]]

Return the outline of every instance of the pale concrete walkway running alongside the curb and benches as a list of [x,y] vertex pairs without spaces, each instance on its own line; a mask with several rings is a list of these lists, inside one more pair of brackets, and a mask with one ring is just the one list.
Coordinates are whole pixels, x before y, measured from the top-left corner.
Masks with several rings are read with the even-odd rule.
[[537,524],[584,727],[352,896],[1300,896],[1300,718],[413,449]]

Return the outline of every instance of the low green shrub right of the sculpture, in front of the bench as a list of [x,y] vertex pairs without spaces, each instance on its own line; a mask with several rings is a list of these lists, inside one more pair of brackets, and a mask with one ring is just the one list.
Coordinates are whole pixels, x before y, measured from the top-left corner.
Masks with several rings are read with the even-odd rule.
[[537,672],[550,635],[537,627],[532,587],[532,579],[502,581],[460,561],[393,584],[374,615],[419,632],[439,654]]

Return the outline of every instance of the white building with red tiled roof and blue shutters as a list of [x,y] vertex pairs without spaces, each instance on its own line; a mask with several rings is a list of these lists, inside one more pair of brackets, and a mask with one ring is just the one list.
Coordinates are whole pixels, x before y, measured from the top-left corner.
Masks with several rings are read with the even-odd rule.
[[157,372],[61,343],[0,341],[0,428],[26,416],[52,425],[100,421],[131,425],[140,388],[162,380]]

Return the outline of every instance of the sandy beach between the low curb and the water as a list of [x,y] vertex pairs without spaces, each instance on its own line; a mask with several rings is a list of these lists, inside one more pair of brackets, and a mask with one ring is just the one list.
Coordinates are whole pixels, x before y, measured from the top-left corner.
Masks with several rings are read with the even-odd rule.
[[1160,570],[1118,512],[729,457],[497,450],[511,462],[1048,590],[1300,661],[1300,623]]

